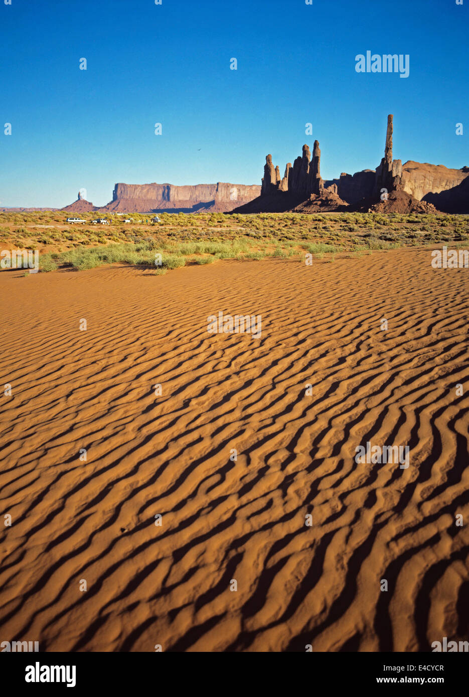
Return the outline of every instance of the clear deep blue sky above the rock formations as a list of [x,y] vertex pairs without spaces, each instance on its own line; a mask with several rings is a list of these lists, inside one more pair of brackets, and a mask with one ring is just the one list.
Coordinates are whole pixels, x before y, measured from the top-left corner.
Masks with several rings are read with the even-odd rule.
[[[469,165],[468,39],[469,0],[0,0],[0,206],[260,183],[314,139],[323,178],[374,169],[388,113],[394,158]],[[355,72],[367,50],[409,77]]]

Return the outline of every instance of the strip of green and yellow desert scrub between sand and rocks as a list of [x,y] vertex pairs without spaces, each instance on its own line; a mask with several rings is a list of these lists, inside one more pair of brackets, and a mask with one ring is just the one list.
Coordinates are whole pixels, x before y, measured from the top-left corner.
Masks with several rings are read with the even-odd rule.
[[[109,225],[92,224],[97,216]],[[0,213],[0,248],[39,249],[40,268],[95,268],[127,263],[155,273],[215,259],[279,259],[314,254],[329,261],[339,252],[395,247],[468,244],[468,215],[390,213],[129,213],[132,222],[109,213],[84,213],[85,224],[67,224],[70,213]],[[155,265],[161,254],[161,266]]]

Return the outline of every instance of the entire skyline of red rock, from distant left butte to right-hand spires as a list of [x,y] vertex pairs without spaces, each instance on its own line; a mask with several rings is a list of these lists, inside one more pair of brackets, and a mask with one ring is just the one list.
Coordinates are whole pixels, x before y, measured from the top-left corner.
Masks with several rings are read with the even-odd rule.
[[[150,213],[157,211],[181,211],[196,213],[198,210],[231,210],[240,213],[282,212],[286,210],[375,210],[381,201],[383,189],[388,197],[392,192],[406,196],[394,196],[387,206],[376,210],[414,209],[416,212],[433,210],[431,204],[445,213],[469,213],[469,167],[449,169],[443,164],[428,164],[392,159],[393,116],[387,116],[384,157],[375,169],[364,169],[339,178],[324,181],[321,178],[321,150],[314,141],[312,153],[306,144],[302,154],[293,162],[287,162],[284,176],[272,163],[272,155],[266,156],[261,185],[197,184],[174,186],[172,184],[124,184],[114,187],[112,201],[106,206],[95,207],[82,198],[61,210],[84,213],[87,210],[121,211],[122,213]],[[417,202],[422,201],[422,206]],[[304,204],[304,205],[303,205]],[[0,210],[56,210],[55,208],[0,208]]]

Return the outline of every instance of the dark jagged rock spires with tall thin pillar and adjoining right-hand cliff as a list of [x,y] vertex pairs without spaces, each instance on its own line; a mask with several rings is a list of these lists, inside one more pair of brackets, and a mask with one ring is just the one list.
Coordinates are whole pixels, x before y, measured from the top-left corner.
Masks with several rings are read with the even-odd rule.
[[443,164],[427,164],[392,159],[393,116],[387,116],[385,153],[376,169],[355,174],[342,172],[330,181],[321,178],[321,150],[314,141],[302,147],[293,167],[287,162],[284,176],[266,156],[259,197],[233,213],[280,213],[282,211],[344,210],[395,213],[469,213],[469,168],[448,169]]

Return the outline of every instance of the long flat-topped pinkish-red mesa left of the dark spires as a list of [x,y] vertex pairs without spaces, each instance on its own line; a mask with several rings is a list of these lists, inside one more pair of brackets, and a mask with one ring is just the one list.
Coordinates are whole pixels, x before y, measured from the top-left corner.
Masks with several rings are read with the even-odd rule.
[[196,184],[116,184],[109,210],[232,210],[252,201],[261,193],[259,185]]

